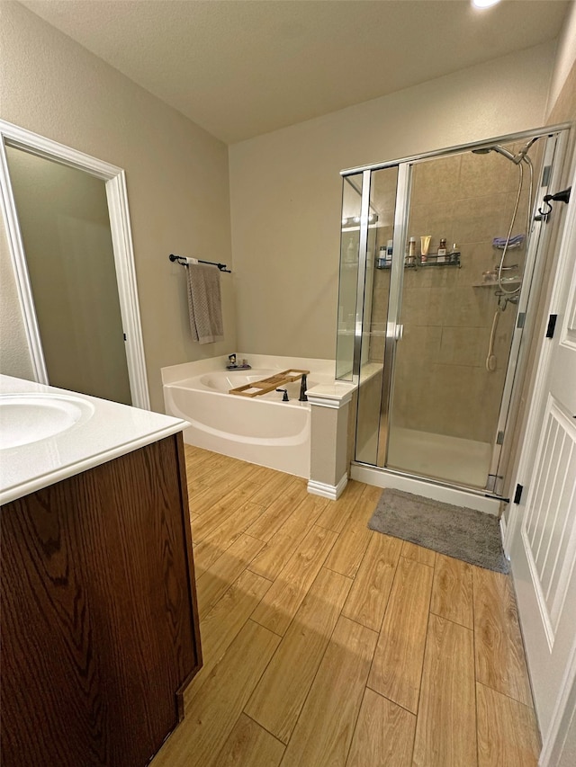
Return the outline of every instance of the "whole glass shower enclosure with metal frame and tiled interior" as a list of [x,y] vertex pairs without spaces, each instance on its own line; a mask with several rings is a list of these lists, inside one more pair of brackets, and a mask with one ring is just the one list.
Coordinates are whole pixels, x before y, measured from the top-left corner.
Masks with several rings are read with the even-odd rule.
[[337,378],[358,383],[357,463],[501,495],[564,138],[342,172]]

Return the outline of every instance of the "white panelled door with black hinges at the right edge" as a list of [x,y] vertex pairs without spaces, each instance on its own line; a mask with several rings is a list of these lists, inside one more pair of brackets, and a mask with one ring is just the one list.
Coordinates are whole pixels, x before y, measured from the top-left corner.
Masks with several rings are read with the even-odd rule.
[[[576,180],[576,179],[575,179]],[[573,183],[572,183],[573,186]],[[535,396],[510,519],[509,554],[518,595],[542,764],[554,764],[554,739],[576,673],[576,191],[566,215],[550,313],[557,316],[538,361]]]

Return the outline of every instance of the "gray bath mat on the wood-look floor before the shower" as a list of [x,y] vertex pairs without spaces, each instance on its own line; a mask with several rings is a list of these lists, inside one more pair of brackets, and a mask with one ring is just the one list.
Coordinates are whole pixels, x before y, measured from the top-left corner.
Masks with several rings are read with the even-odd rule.
[[471,565],[509,572],[500,540],[500,522],[491,514],[386,489],[368,527],[464,559]]

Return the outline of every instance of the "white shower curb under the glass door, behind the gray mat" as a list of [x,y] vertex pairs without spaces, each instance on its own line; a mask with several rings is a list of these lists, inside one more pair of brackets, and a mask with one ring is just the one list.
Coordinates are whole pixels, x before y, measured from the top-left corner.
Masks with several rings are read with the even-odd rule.
[[400,474],[387,471],[385,468],[370,468],[353,463],[350,467],[350,478],[357,479],[359,482],[365,482],[366,485],[392,487],[394,490],[404,490],[406,493],[424,495],[425,498],[432,498],[445,504],[465,506],[469,509],[494,514],[495,516],[498,516],[500,511],[500,501],[497,498],[486,498],[484,495],[467,493],[465,490],[459,490],[455,487],[434,485],[422,479],[402,477]]

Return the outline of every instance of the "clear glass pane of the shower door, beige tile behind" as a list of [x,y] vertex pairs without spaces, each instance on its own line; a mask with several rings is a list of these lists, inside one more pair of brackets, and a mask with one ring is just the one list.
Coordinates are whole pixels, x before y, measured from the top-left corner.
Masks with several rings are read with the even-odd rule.
[[[500,257],[492,241],[509,227],[518,183],[518,168],[498,153],[464,152],[412,167],[406,234],[415,253],[407,252],[401,291],[390,468],[487,484],[517,304],[499,298],[498,284],[483,273],[494,272]],[[516,226],[524,231],[522,203]],[[523,243],[507,254],[516,287],[525,253]]]

